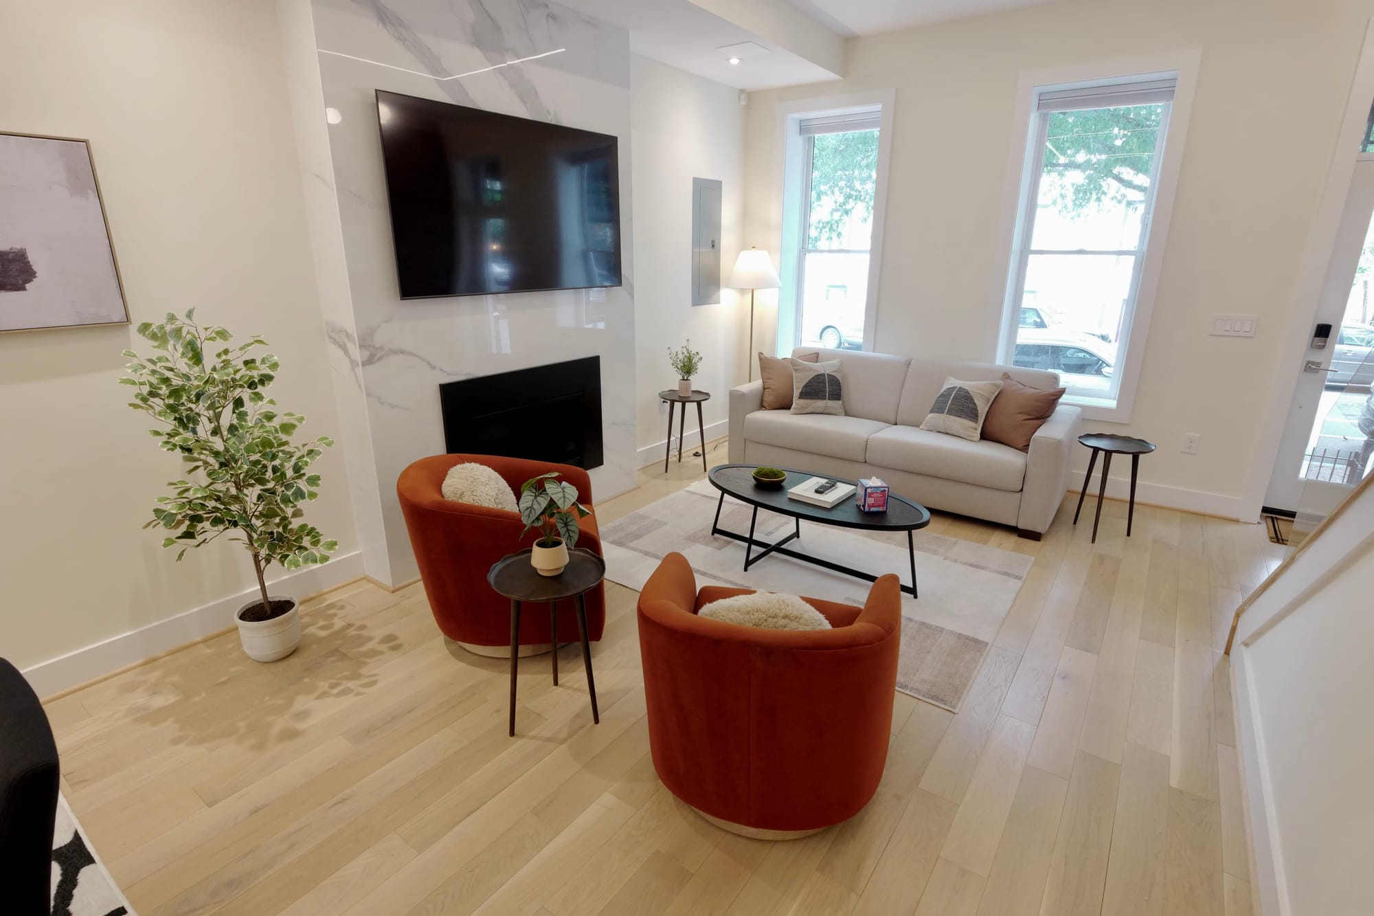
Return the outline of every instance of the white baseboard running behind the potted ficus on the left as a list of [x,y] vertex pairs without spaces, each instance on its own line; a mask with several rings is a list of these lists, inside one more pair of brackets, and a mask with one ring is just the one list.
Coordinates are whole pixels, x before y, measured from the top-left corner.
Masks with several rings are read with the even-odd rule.
[[[306,567],[273,579],[271,589],[305,597],[319,594],[361,575],[363,554],[354,552],[334,557],[323,565]],[[33,692],[40,697],[52,696],[231,627],[234,626],[234,612],[256,594],[257,589],[247,589],[238,594],[225,596],[165,620],[40,662],[25,668],[23,677],[27,678]]]

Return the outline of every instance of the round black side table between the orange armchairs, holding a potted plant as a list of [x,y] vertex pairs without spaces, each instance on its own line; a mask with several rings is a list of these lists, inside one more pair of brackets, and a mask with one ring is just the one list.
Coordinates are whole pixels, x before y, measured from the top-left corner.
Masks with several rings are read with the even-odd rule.
[[584,596],[606,575],[606,561],[591,550],[573,547],[567,552],[567,565],[556,576],[541,576],[529,564],[530,549],[502,557],[486,574],[486,582],[511,600],[511,737],[515,736],[515,674],[519,668],[519,605],[548,602],[550,642],[554,644],[554,684],[558,684],[558,602],[574,598],[577,631],[583,637],[583,667],[587,668],[587,693],[592,699],[592,723],[600,723],[596,711],[596,679],[592,678],[592,649],[587,642],[587,601]]

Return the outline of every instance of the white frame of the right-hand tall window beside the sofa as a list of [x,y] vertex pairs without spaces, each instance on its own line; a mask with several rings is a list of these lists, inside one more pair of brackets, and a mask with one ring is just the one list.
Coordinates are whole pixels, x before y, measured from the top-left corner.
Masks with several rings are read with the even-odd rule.
[[1043,144],[1041,118],[1037,117],[1041,94],[1059,92],[1088,87],[1125,85],[1153,80],[1175,80],[1173,102],[1165,120],[1162,149],[1156,155],[1156,176],[1151,183],[1154,204],[1150,210],[1149,227],[1145,231],[1143,254],[1136,256],[1134,303],[1128,305],[1128,319],[1124,322],[1121,344],[1117,351],[1116,399],[1091,397],[1087,395],[1066,395],[1065,403],[1077,404],[1088,419],[1127,424],[1135,406],[1135,392],[1145,363],[1145,347],[1150,334],[1150,319],[1154,314],[1154,298],[1160,285],[1160,271],[1164,263],[1165,242],[1169,234],[1169,220],[1173,213],[1173,195],[1178,188],[1183,150],[1187,140],[1189,121],[1193,114],[1193,94],[1197,85],[1201,52],[1195,50],[1150,55],[1120,61],[1033,70],[1021,74],[1017,88],[1017,125],[1014,136],[1024,136],[1021,149],[1011,151],[1009,162],[1010,205],[1003,223],[1006,252],[1002,275],[1007,278],[1000,314],[998,315],[996,362],[1011,364],[1015,351],[1017,327],[1021,314],[1021,276],[1029,246],[1029,230],[1036,209],[1035,193],[1041,172]]

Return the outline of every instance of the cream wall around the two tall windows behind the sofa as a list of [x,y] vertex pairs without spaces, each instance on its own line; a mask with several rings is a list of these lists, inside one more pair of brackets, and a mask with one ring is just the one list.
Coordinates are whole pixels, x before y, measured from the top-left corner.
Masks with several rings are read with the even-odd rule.
[[[1132,422],[1094,426],[1158,443],[1140,498],[1249,516],[1245,472],[1259,411],[1287,402],[1297,366],[1278,364],[1351,77],[1374,12],[1320,4],[1061,0],[856,39],[848,77],[750,95],[746,234],[778,250],[780,102],[896,88],[877,349],[992,360],[1015,175],[1020,74],[1175,50],[1201,73]],[[763,245],[764,242],[757,242]],[[1253,340],[1209,337],[1215,312],[1259,316]],[[1202,433],[1197,455],[1183,433]],[[1087,450],[1077,458],[1081,481]],[[1128,473],[1123,462],[1116,475]],[[1113,487],[1124,492],[1124,481]]]

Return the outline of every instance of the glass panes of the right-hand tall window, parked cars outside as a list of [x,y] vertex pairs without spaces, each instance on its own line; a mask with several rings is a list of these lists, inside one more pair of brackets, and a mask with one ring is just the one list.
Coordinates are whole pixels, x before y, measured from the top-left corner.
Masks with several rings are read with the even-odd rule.
[[1173,80],[1040,91],[1002,359],[1116,406]]

